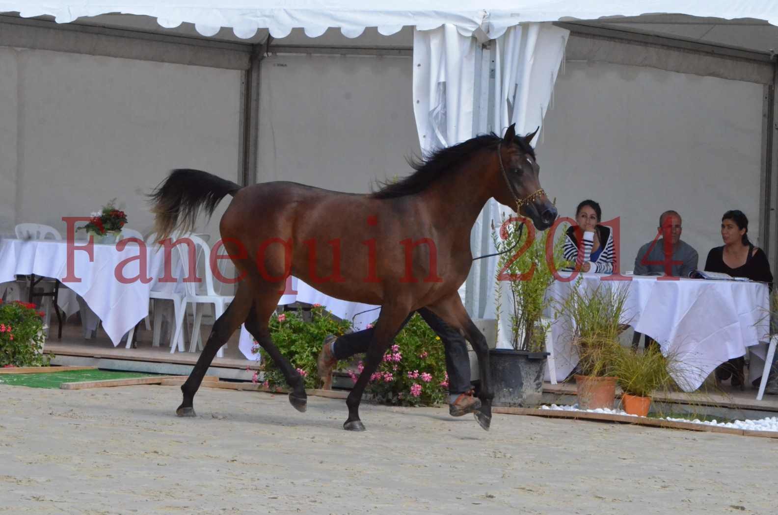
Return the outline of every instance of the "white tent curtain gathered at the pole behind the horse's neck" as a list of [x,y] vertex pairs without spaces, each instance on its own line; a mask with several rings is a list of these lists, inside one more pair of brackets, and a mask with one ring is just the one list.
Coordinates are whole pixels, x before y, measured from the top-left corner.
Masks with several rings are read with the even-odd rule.
[[[415,30],[413,103],[422,152],[456,145],[483,132],[503,134],[513,123],[520,134],[534,131],[542,124],[552,99],[568,36],[568,30],[550,23],[510,27],[492,40],[493,52],[484,51],[484,66],[489,65],[492,55],[495,59],[494,81],[489,82],[489,69],[478,73],[475,38],[462,36],[450,25]],[[486,81],[478,89],[482,77]],[[488,113],[490,97],[494,101]],[[495,252],[491,226],[492,220],[499,225],[500,212],[512,210],[494,200],[485,206],[471,236],[474,256]],[[473,317],[496,317],[496,262],[496,257],[475,261],[471,279],[460,288],[463,301],[466,296],[471,298],[467,304]],[[510,346],[505,338],[510,317],[501,313],[500,318],[504,324],[499,331],[499,345]]]

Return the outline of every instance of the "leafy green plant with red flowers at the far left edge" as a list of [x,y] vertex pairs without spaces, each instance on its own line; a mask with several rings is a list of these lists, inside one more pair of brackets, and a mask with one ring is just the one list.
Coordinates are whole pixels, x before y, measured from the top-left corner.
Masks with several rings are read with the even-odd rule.
[[48,366],[44,354],[44,312],[35,304],[0,301],[0,367]]

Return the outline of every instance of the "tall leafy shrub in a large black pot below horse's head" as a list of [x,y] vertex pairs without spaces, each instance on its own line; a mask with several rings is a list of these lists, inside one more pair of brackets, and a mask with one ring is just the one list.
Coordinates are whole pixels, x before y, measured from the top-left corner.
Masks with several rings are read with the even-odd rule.
[[[554,282],[552,261],[556,269],[568,266],[563,260],[563,240],[552,244],[546,256],[546,243],[551,232],[535,233],[531,224],[520,219],[505,219],[499,229],[499,238],[492,231],[499,254],[496,276],[496,312],[499,337],[499,312],[503,295],[509,305],[511,349],[489,349],[489,367],[494,387],[496,406],[531,407],[541,403],[543,372],[548,352],[545,335],[551,325],[543,318],[551,299],[546,295]],[[514,248],[523,250],[510,252]],[[506,293],[504,292],[506,290]]]

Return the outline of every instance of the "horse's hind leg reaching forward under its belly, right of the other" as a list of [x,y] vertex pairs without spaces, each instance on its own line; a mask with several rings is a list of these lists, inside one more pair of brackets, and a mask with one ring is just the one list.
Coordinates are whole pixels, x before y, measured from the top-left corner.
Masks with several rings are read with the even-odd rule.
[[273,362],[281,369],[286,384],[292,388],[292,391],[289,392],[289,404],[293,405],[298,412],[305,412],[308,404],[305,380],[289,363],[289,359],[286,359],[275,346],[268,329],[268,320],[275,308],[278,307],[281,298],[278,294],[279,288],[282,290],[283,286],[283,284],[264,286],[263,292],[255,294],[254,304],[246,319],[246,330],[254,336],[257,343],[268,352]]

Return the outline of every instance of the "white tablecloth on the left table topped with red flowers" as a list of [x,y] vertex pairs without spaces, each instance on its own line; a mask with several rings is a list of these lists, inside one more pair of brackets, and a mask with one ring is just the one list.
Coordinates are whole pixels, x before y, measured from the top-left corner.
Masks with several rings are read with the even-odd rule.
[[[164,252],[159,247],[146,247],[147,274],[152,278],[151,282],[124,283],[116,279],[114,271],[122,261],[138,256],[138,245],[129,243],[119,251],[113,244],[95,244],[93,260],[90,261],[86,252],[78,250],[85,243],[75,242],[76,250],[72,255],[75,277],[81,282],[70,282],[63,280],[68,272],[68,251],[64,240],[3,239],[0,241],[0,282],[10,282],[16,275],[29,274],[60,280],[72,292],[82,296],[94,314],[100,317],[111,342],[119,345],[121,338],[149,314],[149,291],[156,286],[161,275],[157,272],[163,265]],[[124,277],[138,275],[138,265],[137,259],[124,265],[121,268]],[[77,310],[72,299],[67,299],[66,305],[66,313]]]

